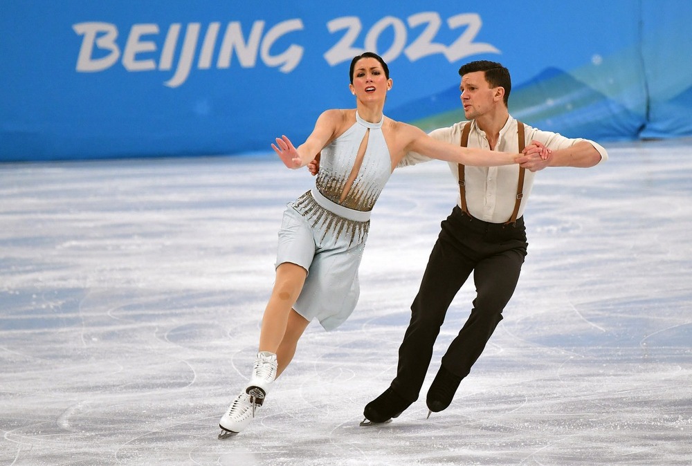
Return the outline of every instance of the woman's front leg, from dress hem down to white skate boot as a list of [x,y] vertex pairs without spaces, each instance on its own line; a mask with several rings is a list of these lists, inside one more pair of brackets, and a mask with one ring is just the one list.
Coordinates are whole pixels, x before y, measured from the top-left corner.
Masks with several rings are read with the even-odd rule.
[[292,310],[293,304],[300,295],[305,277],[307,277],[307,271],[294,263],[284,262],[276,268],[276,281],[262,317],[259,351],[277,353],[286,335],[289,315],[291,312],[295,313]]

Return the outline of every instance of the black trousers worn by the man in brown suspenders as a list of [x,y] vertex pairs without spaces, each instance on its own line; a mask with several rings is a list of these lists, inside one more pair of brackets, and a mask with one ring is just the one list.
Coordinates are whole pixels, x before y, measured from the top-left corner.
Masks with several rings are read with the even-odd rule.
[[471,315],[441,361],[451,373],[462,378],[468,375],[502,320],[502,310],[519,280],[527,246],[523,217],[516,225],[487,223],[456,206],[442,221],[399,347],[392,388],[403,398],[418,399],[447,309],[473,272],[476,297]]

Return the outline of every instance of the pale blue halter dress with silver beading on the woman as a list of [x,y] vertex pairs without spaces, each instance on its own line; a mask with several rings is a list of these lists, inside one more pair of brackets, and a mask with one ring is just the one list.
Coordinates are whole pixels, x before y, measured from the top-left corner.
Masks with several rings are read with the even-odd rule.
[[[315,187],[284,212],[276,265],[291,262],[308,271],[293,308],[305,319],[317,318],[326,330],[343,324],[358,302],[370,211],[392,174],[383,121],[366,122],[356,112],[354,125],[322,149]],[[363,162],[340,201],[366,135]]]

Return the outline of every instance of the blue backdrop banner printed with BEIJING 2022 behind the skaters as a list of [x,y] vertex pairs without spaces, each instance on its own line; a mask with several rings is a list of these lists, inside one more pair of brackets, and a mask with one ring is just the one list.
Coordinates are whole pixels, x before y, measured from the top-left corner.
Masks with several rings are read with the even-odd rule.
[[352,108],[349,63],[394,80],[385,114],[463,119],[459,66],[509,68],[510,112],[599,141],[692,136],[692,2],[5,0],[0,160],[197,156],[296,144]]

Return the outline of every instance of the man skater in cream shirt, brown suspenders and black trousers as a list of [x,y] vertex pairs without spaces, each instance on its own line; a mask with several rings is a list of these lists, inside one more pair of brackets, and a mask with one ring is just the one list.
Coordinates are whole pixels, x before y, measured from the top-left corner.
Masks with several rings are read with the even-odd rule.
[[[520,124],[509,115],[511,79],[502,64],[477,61],[459,68],[466,120],[430,133],[466,147],[520,152],[527,141],[552,151],[547,160],[521,165],[464,167],[450,163],[459,198],[441,223],[411,319],[399,348],[397,376],[365,406],[363,424],[396,418],[417,400],[432,358],[432,346],[452,299],[473,272],[476,297],[468,320],[448,347],[426,402],[430,413],[446,409],[484,350],[511,298],[527,254],[522,216],[535,172],[550,167],[592,167],[608,159],[596,142],[570,139]],[[466,128],[466,134],[464,134]],[[410,153],[399,167],[430,160]],[[430,416],[428,413],[428,416]]]

